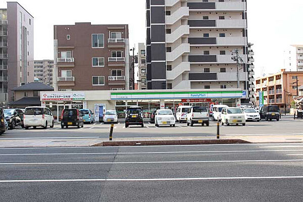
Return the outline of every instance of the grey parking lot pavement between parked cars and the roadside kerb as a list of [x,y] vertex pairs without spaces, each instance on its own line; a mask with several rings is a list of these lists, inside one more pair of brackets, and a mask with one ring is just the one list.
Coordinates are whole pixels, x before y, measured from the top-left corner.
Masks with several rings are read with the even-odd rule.
[[[246,126],[220,126],[221,135],[303,135],[303,120],[282,118],[281,121],[247,122]],[[108,138],[110,124],[95,123],[84,125],[84,128],[64,128],[55,125],[54,128],[37,128],[25,130],[24,128],[9,130],[0,136],[0,139],[8,138],[63,138],[63,137],[89,137]],[[125,128],[123,123],[115,124],[114,137],[175,137],[175,136],[214,136],[216,134],[216,122],[210,126],[195,125],[186,126],[186,123],[177,123],[175,128],[156,127],[154,124],[145,124],[144,128],[130,126]]]

